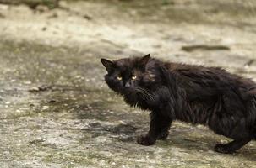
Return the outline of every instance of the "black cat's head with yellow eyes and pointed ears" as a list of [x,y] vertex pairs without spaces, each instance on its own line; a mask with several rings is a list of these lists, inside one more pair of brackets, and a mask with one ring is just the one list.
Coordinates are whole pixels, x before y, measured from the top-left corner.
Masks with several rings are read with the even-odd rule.
[[106,67],[105,81],[108,87],[120,94],[141,92],[156,80],[154,71],[149,70],[154,66],[152,60],[150,55],[114,61],[101,59],[103,66]]

